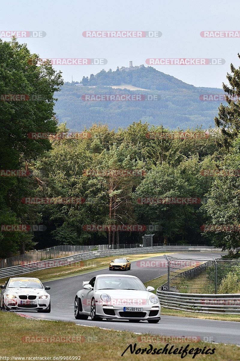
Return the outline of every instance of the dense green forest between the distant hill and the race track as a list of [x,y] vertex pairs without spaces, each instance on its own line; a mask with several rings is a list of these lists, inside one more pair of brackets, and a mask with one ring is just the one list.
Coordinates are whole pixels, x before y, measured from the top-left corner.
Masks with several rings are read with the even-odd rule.
[[[156,225],[155,243],[239,247],[240,173],[234,171],[240,169],[239,100],[227,98],[207,132],[201,126],[170,128],[145,120],[116,130],[107,119],[92,118],[91,126],[71,134],[54,108],[61,73],[48,61],[36,66],[37,55],[15,39],[0,40],[0,52],[7,79],[1,92],[41,94],[35,101],[0,102],[1,170],[10,171],[0,177],[1,257],[60,244],[140,243],[143,235],[114,227],[89,231],[87,225]],[[237,96],[239,70],[232,65],[231,71],[223,91]],[[114,115],[112,121],[116,124]],[[26,201],[36,198],[55,201]],[[139,202],[142,198],[200,200]],[[38,224],[45,230],[6,227]]]

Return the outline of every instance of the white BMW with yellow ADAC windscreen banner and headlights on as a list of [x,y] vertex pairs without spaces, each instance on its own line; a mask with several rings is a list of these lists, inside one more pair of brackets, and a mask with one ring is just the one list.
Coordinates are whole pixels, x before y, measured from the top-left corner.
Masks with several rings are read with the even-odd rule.
[[0,308],[5,310],[37,310],[51,312],[50,295],[38,278],[14,277],[0,286]]

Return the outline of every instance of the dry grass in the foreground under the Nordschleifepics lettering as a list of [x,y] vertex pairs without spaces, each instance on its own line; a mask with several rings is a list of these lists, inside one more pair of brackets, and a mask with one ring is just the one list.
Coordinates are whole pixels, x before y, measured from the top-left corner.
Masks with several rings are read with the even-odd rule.
[[[156,336],[154,336],[152,342],[151,339],[149,339],[149,335],[146,334],[140,336],[127,331],[117,332],[113,330],[102,330],[98,327],[77,326],[72,322],[26,319],[12,312],[0,311],[0,324],[0,352],[1,356],[9,357],[9,360],[11,360],[12,356],[25,357],[25,360],[27,360],[26,357],[43,357],[42,360],[44,360],[45,356],[65,356],[65,360],[105,361],[106,359],[116,360],[119,358],[123,361],[133,361],[136,360],[137,356],[135,353],[131,354],[130,348],[128,348],[123,357],[121,357],[128,345],[132,344],[134,347],[136,343],[135,350],[138,348],[146,348],[146,350],[148,350],[149,344],[152,344],[153,348],[163,349],[168,343],[157,342]],[[11,326],[9,327],[9,325]],[[67,339],[66,336],[68,336]],[[78,342],[70,342],[70,340],[76,340],[76,336],[78,336]],[[143,339],[144,336],[146,337],[145,339]],[[66,342],[66,340],[68,340],[68,342]],[[188,345],[189,350],[191,348],[194,350],[196,348],[203,350],[204,346],[206,347],[205,351],[207,349],[215,349],[213,355],[197,355],[195,359],[199,361],[206,359],[211,361],[239,360],[240,348],[236,345],[211,344],[201,341],[169,342],[167,346],[168,350],[172,345],[173,349],[178,348],[178,350],[181,346],[185,348],[186,345]],[[141,350],[138,353],[140,352]],[[211,351],[209,351],[209,353],[210,352]],[[147,355],[146,352],[143,354],[140,353],[140,355],[142,361],[150,359],[150,355]],[[77,359],[75,358],[76,356],[78,356]],[[173,357],[172,355],[160,354],[159,356],[161,360],[164,361],[172,361],[173,358],[181,360],[181,355],[175,355],[176,357]],[[193,356],[194,354],[186,355],[184,360],[192,360]],[[41,358],[39,358],[39,360],[41,360]],[[64,360],[64,358],[62,358],[62,360]]]

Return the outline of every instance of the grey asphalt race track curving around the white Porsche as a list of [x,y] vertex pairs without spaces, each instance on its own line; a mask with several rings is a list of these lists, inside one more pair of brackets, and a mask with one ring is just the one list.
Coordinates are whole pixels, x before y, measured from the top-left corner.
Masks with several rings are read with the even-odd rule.
[[[187,252],[175,253],[171,256],[177,258],[218,258],[224,253],[220,252]],[[164,256],[151,257],[149,261],[164,261]],[[137,263],[138,262],[138,263]],[[119,273],[120,271],[114,271]],[[51,313],[37,313],[34,311],[21,312],[22,314],[34,316],[41,319],[72,321],[79,325],[98,326],[106,329],[131,331],[139,334],[149,333],[150,335],[166,335],[166,336],[198,336],[205,342],[216,342],[225,344],[240,345],[240,322],[215,321],[208,319],[161,316],[161,320],[157,324],[150,324],[147,321],[132,323],[129,321],[91,321],[76,320],[74,318],[73,304],[76,292],[82,288],[82,281],[90,280],[97,274],[113,273],[108,268],[100,271],[94,271],[78,276],[63,278],[45,282],[50,286],[48,291],[51,295]],[[139,267],[139,261],[131,262],[131,270],[123,272],[124,275],[134,275],[146,282],[153,278],[157,278],[167,273],[166,267]],[[160,285],[159,285],[160,286]],[[144,326],[143,326],[144,323]]]

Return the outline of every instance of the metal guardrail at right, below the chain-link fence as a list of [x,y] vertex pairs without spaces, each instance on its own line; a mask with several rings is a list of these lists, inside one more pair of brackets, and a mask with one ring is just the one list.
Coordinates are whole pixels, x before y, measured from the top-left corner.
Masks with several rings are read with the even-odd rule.
[[240,314],[240,294],[205,295],[196,293],[179,293],[160,291],[157,296],[162,307],[174,310],[215,313]]

